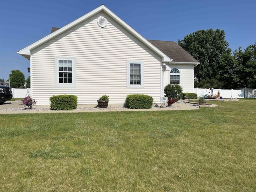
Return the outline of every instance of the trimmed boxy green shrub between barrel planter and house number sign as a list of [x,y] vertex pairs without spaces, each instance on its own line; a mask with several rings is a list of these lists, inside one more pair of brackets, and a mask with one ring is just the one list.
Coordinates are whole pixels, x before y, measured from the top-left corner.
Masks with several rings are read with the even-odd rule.
[[153,101],[149,95],[133,94],[126,97],[126,106],[132,109],[150,109]]

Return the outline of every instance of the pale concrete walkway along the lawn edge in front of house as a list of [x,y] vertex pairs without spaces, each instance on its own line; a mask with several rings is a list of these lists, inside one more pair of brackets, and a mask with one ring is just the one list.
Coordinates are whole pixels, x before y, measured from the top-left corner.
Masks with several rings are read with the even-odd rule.
[[[95,110],[70,110],[70,111],[55,111],[55,110],[36,110],[36,108],[50,108],[50,106],[46,105],[36,105],[33,106],[32,109],[26,109],[21,102],[12,102],[12,101],[6,101],[4,104],[0,105],[0,114],[24,114],[24,113],[78,113],[78,112],[108,112],[108,111],[165,111],[165,110],[195,110],[198,109],[195,106],[187,106],[175,103],[174,106],[177,106],[178,108],[152,108],[152,109],[95,109]],[[78,108],[82,108],[84,106],[78,105]],[[12,110],[14,108],[23,108],[24,110]],[[1,109],[10,109],[10,110],[1,110]]]

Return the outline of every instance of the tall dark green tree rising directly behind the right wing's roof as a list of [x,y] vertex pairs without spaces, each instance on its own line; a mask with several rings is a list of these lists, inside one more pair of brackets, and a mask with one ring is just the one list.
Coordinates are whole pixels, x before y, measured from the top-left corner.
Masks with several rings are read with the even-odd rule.
[[224,30],[198,30],[178,40],[178,44],[200,62],[195,68],[199,83],[216,77],[220,57],[228,48]]

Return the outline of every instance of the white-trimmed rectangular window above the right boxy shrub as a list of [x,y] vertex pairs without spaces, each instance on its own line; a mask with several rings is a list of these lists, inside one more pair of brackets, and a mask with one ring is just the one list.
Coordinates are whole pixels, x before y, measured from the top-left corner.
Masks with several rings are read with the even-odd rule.
[[143,61],[127,61],[127,87],[143,88]]

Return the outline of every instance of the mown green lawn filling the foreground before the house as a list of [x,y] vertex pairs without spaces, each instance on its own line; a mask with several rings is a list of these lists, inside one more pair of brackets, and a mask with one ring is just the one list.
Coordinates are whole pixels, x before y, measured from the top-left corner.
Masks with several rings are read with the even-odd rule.
[[256,191],[256,100],[0,114],[0,191]]

